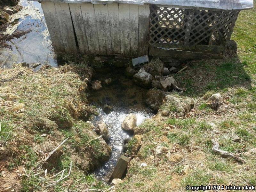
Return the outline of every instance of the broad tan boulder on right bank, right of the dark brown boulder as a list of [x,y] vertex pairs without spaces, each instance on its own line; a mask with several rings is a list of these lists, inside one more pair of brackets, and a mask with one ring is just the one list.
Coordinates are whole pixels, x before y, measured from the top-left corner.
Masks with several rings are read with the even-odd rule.
[[164,98],[163,108],[171,108],[177,116],[185,116],[195,105],[195,101],[188,97],[179,98],[174,95],[166,95]]

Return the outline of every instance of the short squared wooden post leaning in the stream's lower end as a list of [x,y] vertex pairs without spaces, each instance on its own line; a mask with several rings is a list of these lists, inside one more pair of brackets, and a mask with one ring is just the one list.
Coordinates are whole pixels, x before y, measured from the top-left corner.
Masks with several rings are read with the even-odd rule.
[[109,178],[109,181],[111,182],[113,179],[121,179],[122,176],[124,175],[124,172],[126,171],[127,169],[127,165],[129,163],[129,158],[124,156],[124,155],[121,155],[117,164],[116,164],[116,167],[114,169],[114,171],[112,172],[110,178]]

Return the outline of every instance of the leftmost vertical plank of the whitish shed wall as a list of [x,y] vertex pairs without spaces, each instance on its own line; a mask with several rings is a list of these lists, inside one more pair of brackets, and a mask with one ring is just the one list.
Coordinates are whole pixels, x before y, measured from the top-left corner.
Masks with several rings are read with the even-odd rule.
[[60,25],[55,10],[54,3],[41,2],[41,6],[44,12],[44,18],[46,20],[47,28],[50,38],[52,40],[52,46],[55,52],[64,52],[64,45],[60,34]]

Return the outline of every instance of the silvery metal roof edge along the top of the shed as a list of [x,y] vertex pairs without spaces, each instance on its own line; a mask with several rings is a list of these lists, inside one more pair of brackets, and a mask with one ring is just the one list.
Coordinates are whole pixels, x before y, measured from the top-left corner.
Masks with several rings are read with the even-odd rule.
[[218,10],[242,10],[253,8],[253,0],[28,0],[58,3],[93,3],[93,4],[158,4],[173,8],[197,8]]

